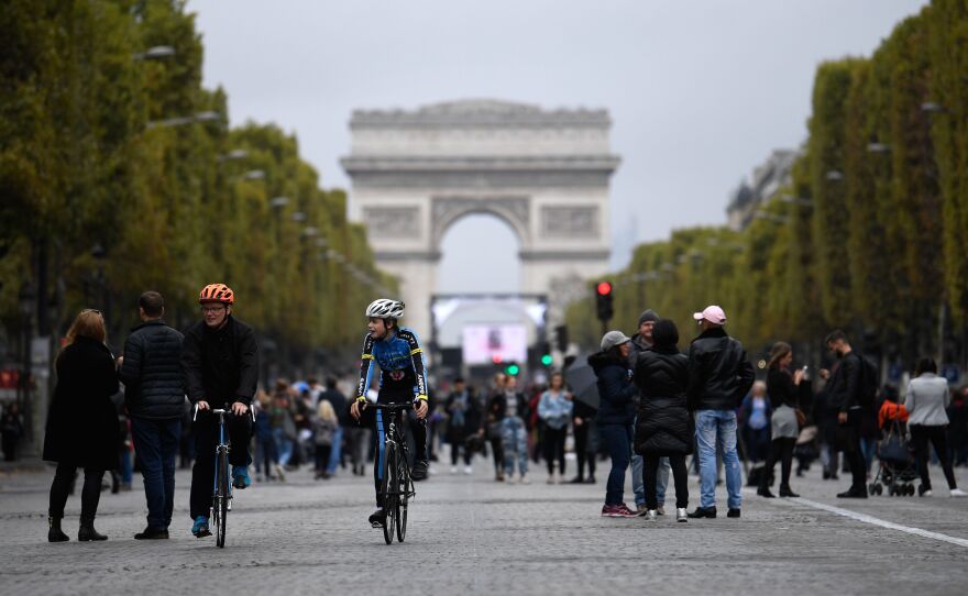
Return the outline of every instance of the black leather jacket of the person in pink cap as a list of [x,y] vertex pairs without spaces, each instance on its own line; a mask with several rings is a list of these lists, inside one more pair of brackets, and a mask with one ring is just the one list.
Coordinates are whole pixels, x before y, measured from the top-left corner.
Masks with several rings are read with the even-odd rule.
[[692,410],[734,410],[752,387],[756,373],[743,344],[722,328],[710,329],[689,347]]

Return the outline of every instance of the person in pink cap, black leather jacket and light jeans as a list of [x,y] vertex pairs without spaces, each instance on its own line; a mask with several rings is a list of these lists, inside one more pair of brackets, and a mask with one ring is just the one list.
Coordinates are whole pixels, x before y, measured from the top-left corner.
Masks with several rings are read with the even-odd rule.
[[727,517],[740,515],[743,479],[736,452],[736,408],[746,396],[756,374],[743,344],[726,334],[726,313],[708,306],[693,318],[703,332],[689,349],[689,401],[695,410],[696,444],[700,456],[700,506],[691,518],[716,517],[716,445],[723,445]]

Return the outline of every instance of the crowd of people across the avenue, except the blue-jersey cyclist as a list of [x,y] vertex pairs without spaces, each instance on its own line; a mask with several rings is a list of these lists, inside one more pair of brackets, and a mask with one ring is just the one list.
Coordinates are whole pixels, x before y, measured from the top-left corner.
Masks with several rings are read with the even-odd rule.
[[[231,317],[231,295],[229,301],[201,303],[206,319],[183,334],[164,322],[162,296],[143,294],[141,323],[118,357],[107,346],[101,312],[85,309],[70,325],[55,363],[57,384],[43,446],[44,460],[57,464],[48,508],[52,542],[68,540],[62,520],[78,470],[84,471],[78,540],[107,539],[94,528],[100,493],[108,486],[105,475],[111,475],[118,492],[130,489],[135,470],[148,510],[146,527],[135,538],[167,538],[179,454],[183,467],[194,461],[193,531],[205,536],[215,427],[193,423],[189,404],[206,409],[207,396],[224,396],[232,404],[232,443],[246,446],[231,452],[238,488],[249,486],[252,461],[256,482],[285,482],[300,467],[310,468],[318,481],[341,471],[365,474],[374,457],[366,439],[371,430],[351,418],[340,379],[278,378],[271,390],[257,388],[254,335]],[[218,327],[208,322],[219,317],[219,307],[211,303],[226,307]],[[530,484],[529,471],[541,460],[548,484],[594,484],[598,460],[605,459],[610,464],[605,517],[657,520],[666,515],[671,477],[675,519],[685,522],[717,517],[716,487],[724,479],[726,515],[741,516],[743,463],[752,464],[747,479],[763,498],[777,496],[778,463],[779,497],[798,497],[791,486],[794,459],[798,476],[815,460],[825,479],[847,471],[850,486],[837,496],[867,498],[880,429],[898,423],[911,439],[919,494],[933,494],[928,464],[934,460],[949,494],[965,495],[953,468],[968,465],[968,388],[952,390],[933,360],[919,363],[902,398],[890,386],[877,387],[870,361],[845,333],[834,331],[826,345],[836,360],[829,371],[818,371],[818,386],[807,366],[794,367],[793,347],[782,341],[765,362],[766,379],[755,380],[746,350],[726,332],[723,309],[710,306],[695,320],[698,333],[684,350],[675,323],[646,310],[634,335],[608,331],[596,353],[586,361],[568,358],[564,371],[551,373],[547,383],[520,388],[517,376],[498,373],[490,388],[479,390],[454,378],[446,394],[431,389],[428,434],[449,445],[452,474],[472,474],[475,455],[487,457],[490,451],[495,481],[507,484]],[[576,395],[566,380],[583,366],[594,378],[594,399],[585,390]],[[4,457],[12,460],[23,434],[15,404],[4,408],[0,431]],[[436,461],[432,443],[428,452]],[[576,473],[569,481],[570,451]],[[691,467],[698,475],[700,498],[688,511]],[[629,471],[635,509],[624,494]]]

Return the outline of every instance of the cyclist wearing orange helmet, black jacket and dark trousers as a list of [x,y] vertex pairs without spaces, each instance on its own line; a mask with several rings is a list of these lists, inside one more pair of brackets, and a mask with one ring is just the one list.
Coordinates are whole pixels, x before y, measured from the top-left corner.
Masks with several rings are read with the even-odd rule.
[[202,320],[185,332],[182,367],[188,399],[198,406],[195,424],[195,466],[191,470],[191,533],[211,536],[208,529],[215,475],[218,426],[212,408],[230,410],[227,417],[232,485],[245,488],[249,477],[249,442],[252,418],[249,408],[258,384],[258,345],[252,328],[232,314],[235,293],[224,284],[209,284],[198,295]]

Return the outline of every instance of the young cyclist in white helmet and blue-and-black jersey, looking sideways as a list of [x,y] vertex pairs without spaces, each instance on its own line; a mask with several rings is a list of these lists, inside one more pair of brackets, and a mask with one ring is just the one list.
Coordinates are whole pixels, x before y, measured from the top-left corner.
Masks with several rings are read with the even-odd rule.
[[[350,407],[350,413],[360,420],[366,412],[366,391],[373,379],[374,362],[380,366],[380,404],[414,402],[417,411],[417,423],[410,427],[414,433],[416,459],[411,477],[415,481],[427,478],[427,377],[424,373],[424,351],[417,341],[417,334],[410,329],[398,324],[404,316],[404,303],[399,300],[381,298],[366,308],[370,323],[369,333],[363,340],[363,365],[360,369],[360,383],[356,386],[356,399]],[[374,410],[370,410],[374,411]],[[373,418],[373,420],[370,420]],[[373,462],[373,479],[376,483],[376,511],[370,516],[374,528],[386,523],[383,497],[380,485],[383,481],[384,437],[388,424],[384,424],[384,412],[375,410],[375,416],[367,412],[366,424],[376,424],[373,433],[378,456]]]

